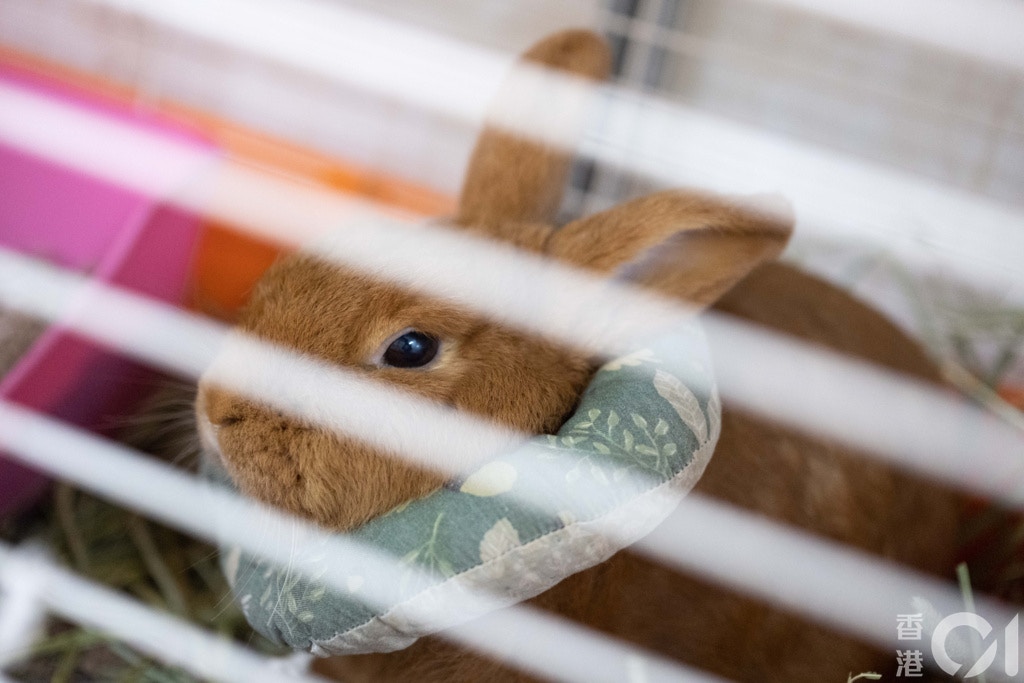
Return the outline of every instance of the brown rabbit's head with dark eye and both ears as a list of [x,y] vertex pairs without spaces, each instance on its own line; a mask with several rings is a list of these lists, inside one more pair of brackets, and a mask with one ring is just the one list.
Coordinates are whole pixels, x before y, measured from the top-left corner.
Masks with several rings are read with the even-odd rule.
[[[579,31],[544,40],[523,58],[587,79],[603,78],[609,61],[604,43]],[[506,88],[498,105],[514,97]],[[777,255],[788,237],[787,218],[692,191],[641,198],[556,228],[551,220],[568,165],[564,150],[485,128],[452,229],[697,305]],[[240,327],[500,425],[556,431],[595,358],[427,292],[298,253],[265,274]],[[208,379],[200,383],[197,414],[205,447],[244,493],[331,528],[350,528],[446,479]]]

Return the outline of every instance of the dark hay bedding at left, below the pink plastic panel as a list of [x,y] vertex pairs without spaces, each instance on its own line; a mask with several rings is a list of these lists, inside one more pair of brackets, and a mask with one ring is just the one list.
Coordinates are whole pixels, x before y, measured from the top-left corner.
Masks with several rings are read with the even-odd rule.
[[[44,329],[39,321],[0,307],[0,377]],[[125,420],[120,440],[168,461],[194,461],[190,403],[190,387],[170,385],[158,391],[137,416]],[[67,484],[56,484],[34,509],[0,519],[0,539],[43,545],[56,561],[99,584],[257,649],[281,651],[246,624],[212,547]],[[58,618],[48,621],[32,651],[5,673],[33,683],[195,680],[101,633]]]

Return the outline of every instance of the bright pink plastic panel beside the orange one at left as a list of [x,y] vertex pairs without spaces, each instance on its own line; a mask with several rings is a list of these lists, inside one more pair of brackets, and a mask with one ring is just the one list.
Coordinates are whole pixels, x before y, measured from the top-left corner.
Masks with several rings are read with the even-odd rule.
[[[0,82],[212,152],[190,131],[69,86],[2,66]],[[172,184],[186,182],[189,172],[183,168]],[[178,302],[199,227],[193,215],[0,140],[3,248]],[[54,326],[0,381],[0,395],[83,427],[102,429],[142,397],[145,374],[137,364]],[[0,515],[32,503],[46,485],[43,475],[0,457]]]

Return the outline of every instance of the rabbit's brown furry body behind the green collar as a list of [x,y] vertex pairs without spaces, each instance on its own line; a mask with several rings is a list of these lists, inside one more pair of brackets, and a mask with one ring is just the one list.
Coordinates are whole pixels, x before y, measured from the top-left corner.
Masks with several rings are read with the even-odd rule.
[[[786,265],[756,269],[716,308],[928,382],[940,381],[920,346],[889,321]],[[733,410],[728,401],[718,447],[695,490],[924,571],[951,575],[961,509],[953,494],[837,442]],[[895,663],[891,653],[631,551],[530,602],[737,681],[841,681],[848,673],[886,671]],[[515,643],[516,635],[509,634],[510,657]],[[326,659],[317,669],[345,681],[534,680],[437,637],[399,652]]]

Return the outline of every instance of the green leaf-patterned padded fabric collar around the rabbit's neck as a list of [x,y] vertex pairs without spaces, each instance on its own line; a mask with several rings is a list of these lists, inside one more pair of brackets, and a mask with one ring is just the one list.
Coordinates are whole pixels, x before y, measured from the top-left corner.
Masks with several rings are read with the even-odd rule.
[[[221,564],[249,623],[272,641],[318,655],[401,649],[643,538],[696,483],[720,424],[693,323],[602,367],[558,434],[339,535],[373,558],[353,552],[339,567],[313,543],[288,567],[237,548]],[[204,471],[231,485],[212,459]],[[378,569],[382,555],[393,570]]]

